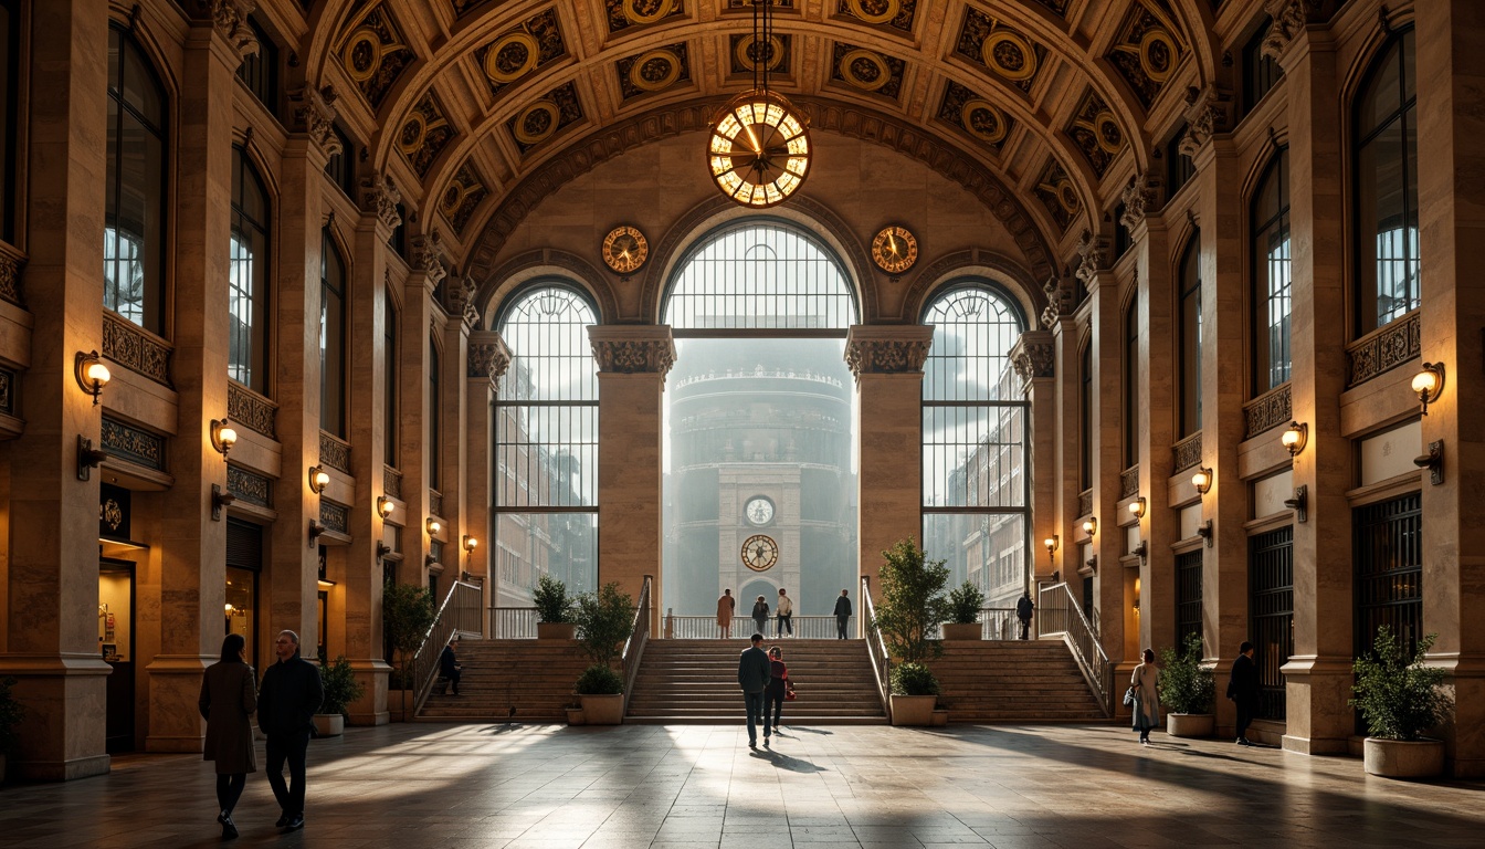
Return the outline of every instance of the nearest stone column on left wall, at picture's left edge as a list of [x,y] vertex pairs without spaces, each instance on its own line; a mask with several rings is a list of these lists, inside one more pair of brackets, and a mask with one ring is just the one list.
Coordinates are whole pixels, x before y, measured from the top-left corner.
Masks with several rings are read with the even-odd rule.
[[[73,379],[79,351],[102,349],[102,239],[108,18],[86,0],[31,9],[31,116],[25,172],[31,259],[31,363],[21,375],[25,430],[9,448],[6,654],[27,705],[10,760],[25,778],[108,772],[98,656],[97,470],[77,479],[77,437],[99,440],[99,410]],[[122,366],[110,364],[117,373]],[[104,390],[104,400],[107,400]]]

